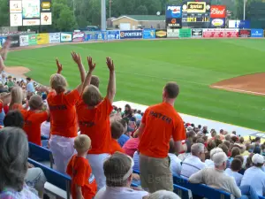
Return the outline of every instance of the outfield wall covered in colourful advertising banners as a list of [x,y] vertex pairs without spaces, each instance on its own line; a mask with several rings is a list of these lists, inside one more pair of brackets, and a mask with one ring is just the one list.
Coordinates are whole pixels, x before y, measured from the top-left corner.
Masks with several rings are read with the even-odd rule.
[[[263,29],[238,28],[183,28],[183,29],[142,29],[142,30],[108,30],[64,32],[50,34],[11,35],[11,48],[43,45],[60,42],[97,42],[126,39],[161,39],[161,38],[262,38]],[[0,45],[6,36],[0,36]]]

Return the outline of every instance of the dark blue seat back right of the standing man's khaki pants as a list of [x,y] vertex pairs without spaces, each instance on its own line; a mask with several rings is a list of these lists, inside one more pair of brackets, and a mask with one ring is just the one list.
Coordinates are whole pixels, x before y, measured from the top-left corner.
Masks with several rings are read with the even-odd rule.
[[234,199],[235,198],[234,195],[231,195],[230,193],[224,192],[219,189],[210,188],[207,185],[193,184],[193,183],[188,182],[188,180],[185,180],[178,176],[173,176],[173,182],[174,184],[182,188],[190,189],[193,193],[193,196],[200,195],[208,199]]

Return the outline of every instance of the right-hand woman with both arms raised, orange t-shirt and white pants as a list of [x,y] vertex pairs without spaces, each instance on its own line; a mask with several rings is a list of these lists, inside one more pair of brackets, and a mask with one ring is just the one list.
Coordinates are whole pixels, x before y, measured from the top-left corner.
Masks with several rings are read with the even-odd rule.
[[98,88],[90,85],[95,64],[88,57],[89,72],[84,81],[82,99],[77,103],[76,109],[81,134],[87,134],[92,141],[92,149],[88,151],[87,158],[95,174],[98,189],[104,187],[106,178],[103,163],[111,154],[110,113],[112,102],[116,94],[116,79],[113,61],[107,57],[110,70],[110,80],[107,96],[102,97]]

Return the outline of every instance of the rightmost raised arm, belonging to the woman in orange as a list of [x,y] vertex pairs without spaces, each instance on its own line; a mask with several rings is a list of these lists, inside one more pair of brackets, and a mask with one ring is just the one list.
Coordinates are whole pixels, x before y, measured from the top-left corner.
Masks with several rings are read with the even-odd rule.
[[110,70],[110,80],[107,90],[107,97],[110,100],[110,103],[113,103],[114,96],[116,94],[116,76],[115,76],[115,66],[113,60],[110,57],[107,57],[107,65]]

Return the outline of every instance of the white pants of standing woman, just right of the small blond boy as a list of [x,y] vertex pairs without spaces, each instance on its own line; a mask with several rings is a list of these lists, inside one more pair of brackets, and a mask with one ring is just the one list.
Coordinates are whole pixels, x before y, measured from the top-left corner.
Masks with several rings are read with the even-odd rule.
[[87,159],[91,165],[92,172],[95,175],[95,181],[97,184],[97,191],[106,185],[106,177],[104,175],[103,165],[105,160],[110,157],[110,154],[88,154]]

